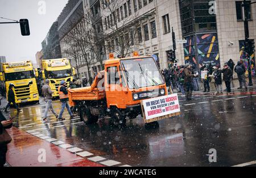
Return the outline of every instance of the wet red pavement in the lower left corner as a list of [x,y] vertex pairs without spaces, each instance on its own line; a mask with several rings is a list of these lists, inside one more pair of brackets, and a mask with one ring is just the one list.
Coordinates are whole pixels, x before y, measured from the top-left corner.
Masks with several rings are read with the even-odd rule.
[[[16,127],[7,130],[13,140],[8,144],[6,161],[14,167],[102,167],[104,165],[82,158],[65,148],[44,139],[20,131]],[[41,149],[41,150],[40,150]],[[42,150],[46,151],[46,162],[40,162]],[[41,159],[42,160],[42,159]]]

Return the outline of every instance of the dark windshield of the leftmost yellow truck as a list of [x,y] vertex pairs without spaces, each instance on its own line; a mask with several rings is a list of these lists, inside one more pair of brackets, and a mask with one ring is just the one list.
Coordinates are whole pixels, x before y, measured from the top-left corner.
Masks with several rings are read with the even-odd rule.
[[35,78],[34,71],[5,73],[6,81],[23,80],[23,79],[27,79],[27,78]]

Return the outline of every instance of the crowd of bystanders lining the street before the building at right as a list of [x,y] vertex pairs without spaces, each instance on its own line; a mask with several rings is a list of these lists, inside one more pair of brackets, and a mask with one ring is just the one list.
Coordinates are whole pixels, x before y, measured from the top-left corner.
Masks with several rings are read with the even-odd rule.
[[[204,71],[204,76],[201,76],[201,71]],[[169,91],[171,92],[176,89],[177,93],[181,92],[187,100],[192,100],[192,91],[200,90],[200,79],[204,86],[204,92],[210,92],[210,82],[213,82],[216,94],[222,94],[222,81],[224,81],[226,85],[225,90],[230,94],[230,83],[233,80],[233,72],[236,72],[238,76],[240,83],[238,89],[242,89],[243,86],[247,89],[245,79],[246,67],[242,60],[238,61],[237,65],[235,65],[233,60],[230,59],[224,64],[223,68],[220,68],[220,65],[214,66],[209,63],[197,69],[195,65],[187,63],[185,65],[173,66],[170,69],[161,70],[161,72]]]

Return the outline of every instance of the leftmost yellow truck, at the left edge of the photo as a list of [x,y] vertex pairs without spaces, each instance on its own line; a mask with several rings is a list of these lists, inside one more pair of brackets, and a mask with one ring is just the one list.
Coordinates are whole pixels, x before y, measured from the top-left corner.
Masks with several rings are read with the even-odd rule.
[[5,82],[7,92],[9,85],[14,85],[15,102],[17,104],[24,102],[39,103],[38,86],[36,85],[38,69],[33,68],[31,61],[2,63],[1,67],[0,80]]

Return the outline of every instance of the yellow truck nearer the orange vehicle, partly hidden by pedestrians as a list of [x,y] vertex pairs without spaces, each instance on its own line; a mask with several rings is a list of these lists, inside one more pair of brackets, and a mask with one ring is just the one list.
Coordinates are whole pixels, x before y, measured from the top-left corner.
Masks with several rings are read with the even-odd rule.
[[42,71],[40,71],[41,78],[45,81],[49,79],[49,86],[54,91],[52,97],[59,97],[58,88],[61,80],[67,82],[69,87],[70,82],[73,80],[75,75],[75,68],[71,67],[68,59],[47,59],[42,60]]

